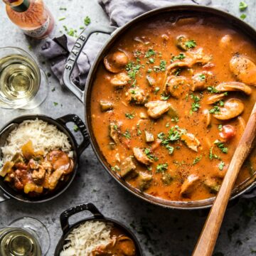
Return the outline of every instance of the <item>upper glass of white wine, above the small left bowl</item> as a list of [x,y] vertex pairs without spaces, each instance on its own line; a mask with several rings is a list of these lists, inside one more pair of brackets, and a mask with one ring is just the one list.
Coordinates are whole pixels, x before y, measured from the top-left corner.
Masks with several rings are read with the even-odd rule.
[[31,110],[47,95],[48,78],[32,56],[21,48],[0,48],[0,107]]

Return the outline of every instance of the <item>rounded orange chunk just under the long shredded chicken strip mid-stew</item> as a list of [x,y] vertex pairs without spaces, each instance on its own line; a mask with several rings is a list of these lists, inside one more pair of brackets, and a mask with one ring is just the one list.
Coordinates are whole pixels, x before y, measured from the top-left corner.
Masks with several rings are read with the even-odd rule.
[[184,85],[188,85],[188,81],[183,76],[170,75],[166,80],[166,93],[178,98],[184,92]]

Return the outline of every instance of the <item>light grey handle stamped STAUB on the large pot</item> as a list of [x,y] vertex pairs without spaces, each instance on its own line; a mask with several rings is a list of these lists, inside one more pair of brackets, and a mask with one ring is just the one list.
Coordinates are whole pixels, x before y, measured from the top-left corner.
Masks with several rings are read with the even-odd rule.
[[68,56],[64,73],[63,73],[63,82],[68,89],[73,92],[73,94],[78,97],[78,99],[81,102],[84,102],[84,90],[80,90],[74,82],[72,82],[70,76],[72,74],[73,69],[75,68],[75,63],[78,60],[78,57],[82,51],[82,48],[84,48],[85,43],[87,42],[88,38],[92,35],[92,33],[107,33],[110,34],[114,32],[117,29],[117,27],[114,26],[88,26],[85,28],[82,33],[80,33],[80,36],[78,37],[78,40],[75,42],[75,45],[73,46],[73,49],[70,51],[70,55]]

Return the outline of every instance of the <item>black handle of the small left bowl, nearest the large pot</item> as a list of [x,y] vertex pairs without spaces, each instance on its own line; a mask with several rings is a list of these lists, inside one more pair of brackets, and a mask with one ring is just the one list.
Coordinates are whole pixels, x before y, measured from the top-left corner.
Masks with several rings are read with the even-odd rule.
[[85,124],[76,114],[67,114],[63,117],[58,118],[57,121],[63,123],[65,126],[68,122],[73,122],[77,125],[83,138],[81,144],[78,145],[78,156],[80,156],[80,154],[82,154],[82,151],[84,151],[90,144],[89,134],[87,132]]

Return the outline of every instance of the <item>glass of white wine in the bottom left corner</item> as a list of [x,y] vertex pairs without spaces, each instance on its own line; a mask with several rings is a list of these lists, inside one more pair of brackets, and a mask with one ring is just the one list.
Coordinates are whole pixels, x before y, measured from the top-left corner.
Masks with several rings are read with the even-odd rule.
[[48,230],[36,218],[19,218],[0,228],[1,256],[45,256],[49,247]]

